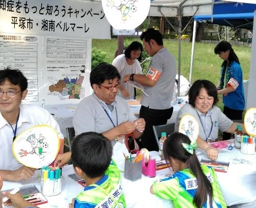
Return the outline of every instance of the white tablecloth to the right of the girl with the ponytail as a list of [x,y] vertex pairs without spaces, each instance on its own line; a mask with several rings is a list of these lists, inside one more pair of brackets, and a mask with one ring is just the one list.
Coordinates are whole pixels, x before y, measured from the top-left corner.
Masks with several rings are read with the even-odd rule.
[[[207,159],[205,152],[199,161]],[[242,154],[239,149],[222,149],[218,161],[228,161],[227,173],[216,172],[227,206],[256,200],[256,154]]]

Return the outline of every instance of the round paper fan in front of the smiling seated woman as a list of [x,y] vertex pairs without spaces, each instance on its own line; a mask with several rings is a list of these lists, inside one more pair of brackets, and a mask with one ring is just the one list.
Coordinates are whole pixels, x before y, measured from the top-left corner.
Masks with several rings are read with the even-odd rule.
[[178,131],[187,135],[191,142],[195,141],[199,134],[199,125],[197,120],[190,114],[183,115],[180,120]]

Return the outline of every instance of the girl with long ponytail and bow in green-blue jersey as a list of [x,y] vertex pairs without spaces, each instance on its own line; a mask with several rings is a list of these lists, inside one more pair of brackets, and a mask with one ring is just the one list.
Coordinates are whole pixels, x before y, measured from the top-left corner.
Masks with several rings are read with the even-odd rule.
[[173,201],[175,208],[226,208],[214,170],[200,165],[196,142],[175,132],[164,143],[164,157],[174,175],[155,181],[150,192]]

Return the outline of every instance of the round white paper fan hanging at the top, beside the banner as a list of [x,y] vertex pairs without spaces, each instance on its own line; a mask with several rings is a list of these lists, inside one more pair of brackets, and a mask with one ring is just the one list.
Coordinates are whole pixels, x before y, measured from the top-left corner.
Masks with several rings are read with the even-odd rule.
[[108,22],[117,30],[133,30],[148,16],[150,0],[102,0]]

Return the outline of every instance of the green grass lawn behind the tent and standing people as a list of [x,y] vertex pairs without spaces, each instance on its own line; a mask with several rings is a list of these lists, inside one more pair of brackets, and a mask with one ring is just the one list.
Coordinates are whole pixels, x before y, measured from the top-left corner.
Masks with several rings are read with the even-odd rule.
[[[140,41],[139,38],[133,38],[132,41]],[[141,41],[140,41],[141,42]],[[92,47],[96,47],[108,53],[106,62],[112,63],[115,52],[117,50],[117,39],[111,40],[92,40]],[[164,39],[164,46],[175,56],[178,66],[178,41],[173,39]],[[210,80],[214,84],[218,84],[221,76],[222,59],[214,53],[216,44],[196,43],[194,50],[194,64],[192,72],[192,82],[198,79]],[[251,48],[247,46],[233,45],[234,51],[237,54],[242,70],[243,79],[249,79]],[[189,79],[189,68],[191,58],[191,43],[182,41],[181,43],[181,75]],[[218,107],[223,108],[222,100],[218,102]]]

